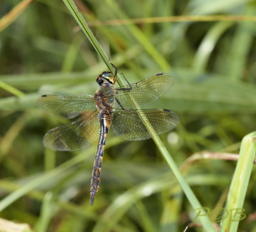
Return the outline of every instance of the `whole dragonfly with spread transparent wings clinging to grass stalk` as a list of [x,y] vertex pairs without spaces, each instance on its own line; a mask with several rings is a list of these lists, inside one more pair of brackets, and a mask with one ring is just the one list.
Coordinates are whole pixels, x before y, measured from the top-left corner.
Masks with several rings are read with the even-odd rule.
[[[116,75],[116,68],[115,73],[100,73],[96,78],[100,87],[94,96],[42,95],[37,100],[38,107],[51,116],[70,120],[70,123],[52,128],[45,134],[43,144],[46,148],[56,151],[80,150],[98,139],[90,189],[91,206],[99,190],[110,127],[121,139],[140,141],[168,132],[180,122],[179,116],[168,109],[140,109],[172,88],[171,75],[157,73],[136,83],[128,82],[122,88],[113,88]],[[139,109],[134,107],[129,96],[140,106]],[[143,120],[147,120],[147,123],[143,123]],[[151,132],[148,132],[150,128]]]

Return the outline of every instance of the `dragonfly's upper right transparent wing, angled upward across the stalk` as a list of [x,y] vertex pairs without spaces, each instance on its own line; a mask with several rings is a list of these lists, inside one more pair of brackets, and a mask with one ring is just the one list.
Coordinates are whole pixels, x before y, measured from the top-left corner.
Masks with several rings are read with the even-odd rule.
[[134,108],[125,93],[131,93],[136,102],[142,106],[154,102],[173,86],[173,77],[166,73],[158,73],[123,88],[114,89],[115,107]]

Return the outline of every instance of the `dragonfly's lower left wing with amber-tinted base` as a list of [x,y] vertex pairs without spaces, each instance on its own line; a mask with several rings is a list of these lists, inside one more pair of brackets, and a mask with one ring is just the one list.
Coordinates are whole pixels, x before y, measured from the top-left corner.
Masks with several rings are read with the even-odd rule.
[[97,111],[83,112],[77,120],[55,127],[43,139],[46,148],[56,151],[79,150],[99,138]]

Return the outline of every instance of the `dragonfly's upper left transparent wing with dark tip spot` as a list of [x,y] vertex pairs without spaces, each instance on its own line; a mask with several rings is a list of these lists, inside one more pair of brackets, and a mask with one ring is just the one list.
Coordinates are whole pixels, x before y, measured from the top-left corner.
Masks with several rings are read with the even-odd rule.
[[95,100],[90,95],[42,95],[38,98],[37,105],[47,114],[70,119],[76,118],[84,111],[95,109]]

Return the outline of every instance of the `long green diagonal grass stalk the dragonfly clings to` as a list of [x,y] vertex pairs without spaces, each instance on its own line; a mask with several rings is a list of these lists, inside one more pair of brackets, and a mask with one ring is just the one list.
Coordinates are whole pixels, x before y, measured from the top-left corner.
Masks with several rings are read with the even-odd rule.
[[[77,23],[79,24],[79,26],[81,27],[81,29],[85,33],[85,35],[88,37],[89,41],[92,43],[95,50],[97,50],[100,57],[104,60],[104,62],[108,66],[109,70],[111,70],[111,72],[113,72],[113,67],[111,66],[111,63],[109,62],[109,59],[107,58],[106,54],[104,53],[104,51],[100,47],[99,42],[97,42],[95,36],[92,34],[92,31],[90,30],[90,28],[86,24],[85,20],[83,19],[83,16],[81,15],[81,13],[79,13],[74,1],[72,1],[72,0],[63,0],[63,2],[66,4],[66,6],[68,7],[68,10],[70,10],[73,17],[76,19]],[[118,84],[119,84],[119,82],[118,82]],[[139,105],[136,104],[135,100],[132,98],[132,95],[129,94],[128,97],[132,100],[132,103],[136,106],[136,108],[140,109]],[[186,182],[186,180],[184,179],[184,177],[180,173],[179,167],[177,167],[174,160],[172,159],[172,157],[168,153],[168,150],[165,148],[164,144],[159,139],[159,137],[154,136],[156,133],[154,132],[154,128],[152,128],[152,126],[150,125],[147,118],[141,117],[141,121],[143,121],[145,126],[148,128],[148,131],[150,132],[150,134],[153,135],[152,137],[153,137],[154,142],[157,145],[157,148],[159,149],[159,151],[163,155],[164,159],[166,160],[166,162],[168,163],[168,165],[172,169],[173,174],[175,174],[175,177],[177,178],[178,182],[180,183],[182,189],[184,190],[184,193],[188,197],[188,200],[191,203],[191,205],[193,206],[193,208],[194,209],[202,208],[198,199],[196,199],[195,194],[193,193],[193,191],[189,187],[188,183]],[[200,217],[200,221],[202,222],[202,224],[204,226],[204,229],[206,231],[215,231],[215,229],[213,228],[213,226],[211,224],[211,221],[209,220],[209,217],[207,217],[206,213],[205,213],[205,216]]]

